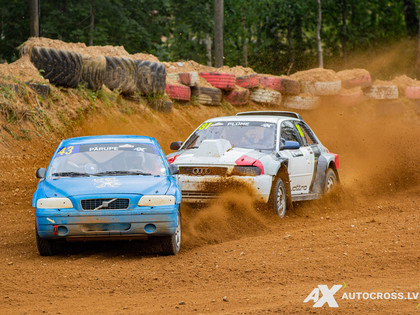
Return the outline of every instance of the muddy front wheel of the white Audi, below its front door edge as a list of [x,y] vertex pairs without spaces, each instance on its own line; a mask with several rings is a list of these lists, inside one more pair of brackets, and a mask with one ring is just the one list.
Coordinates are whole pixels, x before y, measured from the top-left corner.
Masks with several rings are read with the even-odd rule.
[[[271,187],[268,205],[280,218],[284,218],[286,211],[292,208],[290,184],[287,176],[277,175]],[[285,184],[286,183],[286,184]],[[288,189],[286,188],[288,185]]]

